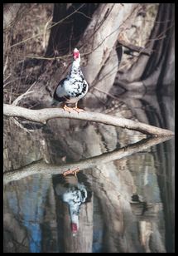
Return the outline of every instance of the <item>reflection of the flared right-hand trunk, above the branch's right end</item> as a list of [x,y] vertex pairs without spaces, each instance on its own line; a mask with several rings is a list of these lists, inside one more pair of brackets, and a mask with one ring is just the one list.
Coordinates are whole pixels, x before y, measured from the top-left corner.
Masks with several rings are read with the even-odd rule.
[[[170,86],[172,87],[172,86]],[[115,91],[112,91],[115,94]],[[123,94],[123,101],[131,110],[138,121],[156,127],[165,127],[174,131],[174,96],[156,94],[133,94],[129,91]]]

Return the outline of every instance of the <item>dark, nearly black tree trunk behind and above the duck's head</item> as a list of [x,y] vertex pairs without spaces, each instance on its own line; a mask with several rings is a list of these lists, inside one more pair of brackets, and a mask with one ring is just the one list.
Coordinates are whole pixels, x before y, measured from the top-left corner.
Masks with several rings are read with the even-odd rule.
[[46,57],[72,52],[97,7],[94,3],[54,3]]

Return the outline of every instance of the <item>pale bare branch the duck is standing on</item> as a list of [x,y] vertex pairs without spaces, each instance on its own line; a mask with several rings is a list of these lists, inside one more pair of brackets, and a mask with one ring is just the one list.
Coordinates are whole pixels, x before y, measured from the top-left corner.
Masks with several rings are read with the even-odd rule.
[[67,112],[61,108],[45,108],[41,110],[29,110],[21,106],[12,106],[3,104],[3,114],[5,116],[23,117],[29,121],[40,122],[46,124],[46,121],[53,118],[70,118],[85,121],[94,121],[110,126],[119,126],[129,130],[137,130],[148,135],[174,135],[171,130],[161,129],[156,126],[149,126],[147,124],[132,121],[125,118],[118,118],[117,116],[110,116],[101,113],[84,111],[77,113],[76,111]]

